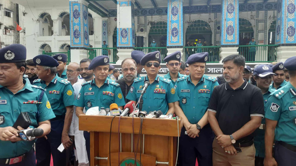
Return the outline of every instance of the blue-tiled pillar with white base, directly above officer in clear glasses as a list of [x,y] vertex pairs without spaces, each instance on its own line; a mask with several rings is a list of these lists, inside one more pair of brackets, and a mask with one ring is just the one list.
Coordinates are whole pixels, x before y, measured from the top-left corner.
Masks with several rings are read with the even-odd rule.
[[168,0],[167,55],[181,51],[183,55],[183,0]]

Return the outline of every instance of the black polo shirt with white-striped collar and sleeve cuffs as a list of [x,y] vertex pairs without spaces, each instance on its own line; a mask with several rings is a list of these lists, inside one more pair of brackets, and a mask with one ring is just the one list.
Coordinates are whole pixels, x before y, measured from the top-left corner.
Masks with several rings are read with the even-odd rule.
[[[262,91],[247,80],[237,89],[232,89],[226,82],[214,88],[208,110],[216,113],[224,134],[233,134],[248,123],[251,116],[264,118]],[[251,141],[253,137],[254,133],[237,140],[237,143]]]

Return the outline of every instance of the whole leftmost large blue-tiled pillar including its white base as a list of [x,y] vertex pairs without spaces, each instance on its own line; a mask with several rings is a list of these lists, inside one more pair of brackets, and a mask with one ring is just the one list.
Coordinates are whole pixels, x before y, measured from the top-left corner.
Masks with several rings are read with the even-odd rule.
[[88,3],[70,0],[70,47],[71,60],[78,62],[87,58],[89,47]]

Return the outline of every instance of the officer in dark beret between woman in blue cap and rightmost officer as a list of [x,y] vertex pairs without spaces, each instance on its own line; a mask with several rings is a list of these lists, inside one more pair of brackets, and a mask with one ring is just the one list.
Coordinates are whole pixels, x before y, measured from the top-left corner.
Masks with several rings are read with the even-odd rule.
[[272,89],[279,89],[283,86],[285,86],[288,82],[285,81],[285,68],[284,68],[284,63],[279,62],[272,66],[272,71],[274,74],[273,76],[273,82],[270,85]]

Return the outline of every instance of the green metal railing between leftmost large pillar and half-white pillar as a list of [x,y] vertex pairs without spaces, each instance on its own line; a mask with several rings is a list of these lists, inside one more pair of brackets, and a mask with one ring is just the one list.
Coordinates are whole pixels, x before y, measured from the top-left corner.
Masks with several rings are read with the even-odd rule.
[[115,64],[117,58],[117,48],[87,48],[87,58],[93,59],[96,56],[109,56],[110,64]]

